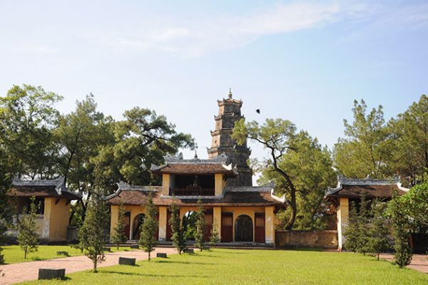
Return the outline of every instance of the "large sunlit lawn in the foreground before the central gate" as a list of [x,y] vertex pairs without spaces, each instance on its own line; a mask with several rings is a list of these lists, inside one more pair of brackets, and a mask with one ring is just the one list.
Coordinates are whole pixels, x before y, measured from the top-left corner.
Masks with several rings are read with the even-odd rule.
[[360,254],[213,249],[25,284],[428,284],[428,275]]

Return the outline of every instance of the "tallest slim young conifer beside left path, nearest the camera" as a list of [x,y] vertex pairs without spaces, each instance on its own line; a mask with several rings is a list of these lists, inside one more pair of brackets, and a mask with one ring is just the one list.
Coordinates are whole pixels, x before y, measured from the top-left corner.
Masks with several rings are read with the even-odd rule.
[[106,241],[106,229],[108,223],[108,211],[100,190],[94,190],[93,196],[88,204],[85,222],[82,226],[80,240],[84,245],[85,255],[93,262],[93,272],[97,272],[97,265],[106,260],[104,255],[104,244]]

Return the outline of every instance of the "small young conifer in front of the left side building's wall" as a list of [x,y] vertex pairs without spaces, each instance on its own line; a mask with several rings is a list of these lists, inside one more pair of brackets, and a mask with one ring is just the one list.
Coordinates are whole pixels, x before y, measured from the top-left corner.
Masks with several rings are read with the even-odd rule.
[[37,233],[37,206],[35,203],[36,198],[31,197],[30,199],[30,211],[27,212],[24,207],[24,213],[19,219],[18,223],[18,243],[21,249],[24,251],[24,259],[30,252],[37,252],[39,245],[39,234]]

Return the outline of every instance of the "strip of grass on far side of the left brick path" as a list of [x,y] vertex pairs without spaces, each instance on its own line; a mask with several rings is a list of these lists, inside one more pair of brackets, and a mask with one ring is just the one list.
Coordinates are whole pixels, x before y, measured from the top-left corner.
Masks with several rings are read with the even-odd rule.
[[[57,256],[56,252],[68,252],[70,257],[76,257],[78,255],[83,255],[79,249],[73,249],[68,245],[63,246],[51,246],[51,245],[40,245],[37,252],[31,252],[27,254],[27,259],[24,259],[24,252],[18,245],[11,245],[3,247],[4,251],[1,254],[4,254],[4,263],[12,264],[26,261],[39,261],[46,259],[57,259],[63,258],[64,256]],[[116,247],[111,248],[112,252],[116,252]],[[119,247],[119,251],[131,250],[129,247]]]

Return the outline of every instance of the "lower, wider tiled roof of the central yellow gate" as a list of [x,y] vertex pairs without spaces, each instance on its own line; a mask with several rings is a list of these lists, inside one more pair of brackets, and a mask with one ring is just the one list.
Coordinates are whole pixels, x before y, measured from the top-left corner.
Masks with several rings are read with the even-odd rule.
[[134,187],[124,190],[119,187],[115,194],[106,197],[107,204],[141,205],[147,203],[147,195],[153,193],[153,203],[157,206],[169,206],[173,202],[178,206],[195,206],[201,199],[205,206],[273,206],[284,205],[284,200],[272,195],[271,187],[226,187],[224,195],[210,197],[162,196],[161,187]]

